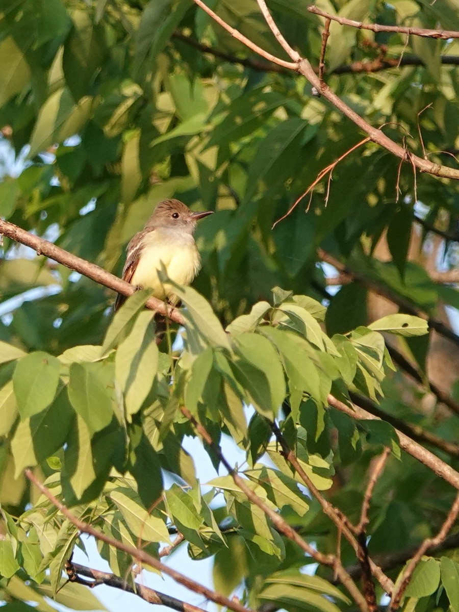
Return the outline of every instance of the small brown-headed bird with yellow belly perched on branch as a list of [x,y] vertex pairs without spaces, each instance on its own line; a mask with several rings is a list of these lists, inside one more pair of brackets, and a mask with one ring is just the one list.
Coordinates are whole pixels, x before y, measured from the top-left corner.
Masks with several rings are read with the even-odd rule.
[[[158,272],[166,270],[177,285],[190,285],[200,271],[201,258],[193,238],[196,222],[213,211],[192,212],[179,200],[163,200],[155,208],[143,230],[127,245],[123,280],[131,285],[152,289],[152,294],[174,304],[177,297],[168,283],[162,283]],[[116,297],[115,312],[124,303]]]

